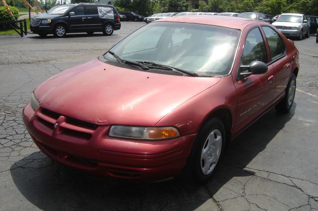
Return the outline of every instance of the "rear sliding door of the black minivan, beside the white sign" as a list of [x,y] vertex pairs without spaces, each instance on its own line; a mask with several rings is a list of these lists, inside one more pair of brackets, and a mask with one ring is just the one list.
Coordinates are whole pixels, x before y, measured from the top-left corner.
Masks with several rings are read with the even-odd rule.
[[87,31],[101,31],[102,19],[99,18],[97,5],[85,5]]

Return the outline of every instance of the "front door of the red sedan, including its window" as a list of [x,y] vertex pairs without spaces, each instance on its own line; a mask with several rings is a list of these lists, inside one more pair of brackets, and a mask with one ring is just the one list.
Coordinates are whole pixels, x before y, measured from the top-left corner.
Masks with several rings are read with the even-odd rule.
[[[243,45],[241,65],[248,65],[255,60],[268,63],[268,53],[258,26],[248,32]],[[234,79],[238,96],[235,130],[240,130],[271,105],[275,77],[272,65],[267,66],[268,70],[264,74],[250,75],[244,79],[236,76]]]

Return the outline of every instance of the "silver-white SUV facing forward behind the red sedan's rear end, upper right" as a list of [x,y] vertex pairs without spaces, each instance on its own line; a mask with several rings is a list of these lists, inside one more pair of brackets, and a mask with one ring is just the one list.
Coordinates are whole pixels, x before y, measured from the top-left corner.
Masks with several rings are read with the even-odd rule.
[[304,35],[309,37],[310,24],[303,14],[283,13],[272,25],[288,37],[298,37],[299,40]]

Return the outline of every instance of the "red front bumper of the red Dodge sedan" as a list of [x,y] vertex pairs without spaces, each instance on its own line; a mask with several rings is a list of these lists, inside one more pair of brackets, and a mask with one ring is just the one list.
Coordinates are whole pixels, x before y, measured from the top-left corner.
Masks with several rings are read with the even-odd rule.
[[72,125],[61,130],[44,123],[40,120],[41,109],[34,111],[28,104],[22,111],[26,128],[39,149],[62,164],[97,175],[137,181],[175,176],[185,166],[196,137],[192,134],[165,141],[119,139],[108,136],[110,126],[98,126],[84,140]]

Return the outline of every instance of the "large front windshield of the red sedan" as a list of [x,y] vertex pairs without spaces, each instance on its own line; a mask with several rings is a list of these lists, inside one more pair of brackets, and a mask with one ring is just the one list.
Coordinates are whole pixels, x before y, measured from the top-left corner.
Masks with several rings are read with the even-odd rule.
[[[193,23],[155,22],[122,40],[111,51],[129,61],[151,61],[197,74],[231,71],[240,31]],[[110,53],[104,57],[116,60]]]

